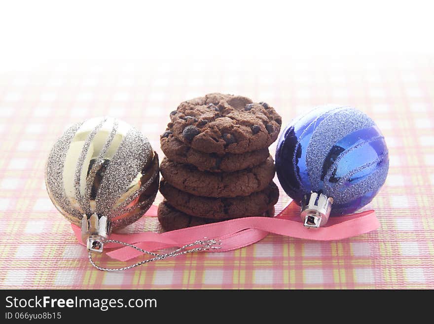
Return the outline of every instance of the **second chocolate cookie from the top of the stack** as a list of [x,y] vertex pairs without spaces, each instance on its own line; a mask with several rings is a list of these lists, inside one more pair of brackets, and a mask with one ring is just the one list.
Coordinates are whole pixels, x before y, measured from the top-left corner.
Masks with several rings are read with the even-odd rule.
[[173,135],[171,130],[167,130],[160,136],[160,144],[161,149],[169,160],[178,163],[192,164],[200,171],[240,171],[253,168],[254,166],[264,162],[270,156],[268,148],[243,154],[207,154],[182,143]]

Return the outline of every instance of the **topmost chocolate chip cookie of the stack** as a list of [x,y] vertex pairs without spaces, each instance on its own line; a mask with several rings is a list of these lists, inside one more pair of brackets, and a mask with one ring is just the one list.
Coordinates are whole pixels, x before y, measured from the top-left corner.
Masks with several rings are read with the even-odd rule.
[[281,116],[267,103],[220,93],[185,101],[170,118],[168,127],[182,143],[218,154],[267,148],[282,125]]

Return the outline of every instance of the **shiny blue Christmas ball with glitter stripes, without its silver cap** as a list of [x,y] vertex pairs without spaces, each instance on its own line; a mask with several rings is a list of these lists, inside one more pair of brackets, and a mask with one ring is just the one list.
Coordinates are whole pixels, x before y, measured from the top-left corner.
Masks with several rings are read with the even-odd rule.
[[299,205],[310,192],[332,197],[331,216],[368,204],[388,170],[383,135],[355,108],[315,108],[293,120],[277,144],[276,171],[285,192]]

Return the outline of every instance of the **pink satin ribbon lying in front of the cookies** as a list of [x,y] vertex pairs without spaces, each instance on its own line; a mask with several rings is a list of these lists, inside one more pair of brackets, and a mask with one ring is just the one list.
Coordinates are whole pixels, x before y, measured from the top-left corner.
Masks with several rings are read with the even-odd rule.
[[[145,216],[157,216],[157,206],[151,206]],[[165,233],[142,232],[135,234],[110,235],[110,240],[123,241],[152,252],[156,250],[182,247],[204,238],[221,242],[221,248],[210,252],[225,252],[246,247],[262,240],[268,233],[274,233],[305,240],[334,241],[358,236],[376,230],[378,222],[373,210],[330,217],[324,227],[309,229],[304,227],[300,218],[300,207],[291,202],[278,216],[244,217],[225,220],[217,223],[194,226]],[[81,242],[81,229],[72,224],[72,230],[78,242]],[[120,247],[120,248],[119,248]],[[143,254],[131,247],[109,243],[105,248],[118,248],[107,254],[116,260],[127,261]]]

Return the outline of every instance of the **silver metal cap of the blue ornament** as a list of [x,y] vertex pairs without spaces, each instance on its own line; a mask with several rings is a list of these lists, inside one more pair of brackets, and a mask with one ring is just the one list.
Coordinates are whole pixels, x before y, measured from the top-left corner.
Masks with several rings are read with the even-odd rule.
[[305,194],[301,202],[301,219],[307,228],[325,225],[330,216],[333,198],[317,192]]

